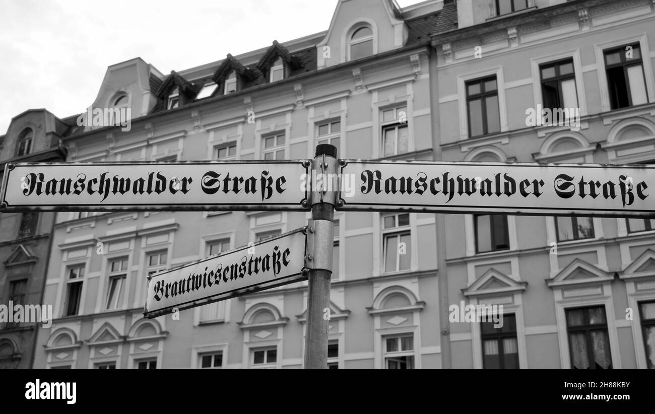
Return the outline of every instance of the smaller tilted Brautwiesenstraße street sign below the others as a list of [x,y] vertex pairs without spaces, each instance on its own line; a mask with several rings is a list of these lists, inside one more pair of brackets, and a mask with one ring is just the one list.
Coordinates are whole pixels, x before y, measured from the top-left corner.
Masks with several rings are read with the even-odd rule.
[[146,318],[307,280],[306,228],[150,276]]

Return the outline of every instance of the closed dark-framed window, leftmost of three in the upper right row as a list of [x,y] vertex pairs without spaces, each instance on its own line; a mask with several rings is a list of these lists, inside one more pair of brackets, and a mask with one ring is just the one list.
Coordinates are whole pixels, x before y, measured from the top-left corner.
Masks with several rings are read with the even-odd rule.
[[500,131],[498,84],[495,76],[466,83],[466,107],[469,137]]

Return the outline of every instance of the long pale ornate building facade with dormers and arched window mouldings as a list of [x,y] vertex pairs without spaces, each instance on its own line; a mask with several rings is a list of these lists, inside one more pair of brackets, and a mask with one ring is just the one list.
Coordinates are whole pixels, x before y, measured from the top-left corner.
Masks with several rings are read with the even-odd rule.
[[[295,41],[170,75],[140,58],[109,67],[92,107],[130,108],[130,130],[73,126],[62,140],[75,162],[309,159],[331,143],[343,159],[652,163],[654,8],[340,0],[327,31]],[[576,128],[527,124],[542,107],[575,109]],[[309,217],[57,214],[43,297],[55,318],[34,367],[303,367],[307,282],[142,311],[149,273]],[[438,273],[434,214],[335,213],[329,367],[653,367],[655,221],[446,217]],[[440,326],[438,274],[449,305],[502,305],[504,328]]]

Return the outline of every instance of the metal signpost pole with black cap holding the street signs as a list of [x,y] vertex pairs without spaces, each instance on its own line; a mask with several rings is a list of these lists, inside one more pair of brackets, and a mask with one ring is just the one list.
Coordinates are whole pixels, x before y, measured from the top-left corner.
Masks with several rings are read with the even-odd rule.
[[[327,369],[327,330],[329,329],[329,292],[332,278],[333,220],[336,189],[331,177],[337,172],[337,147],[329,144],[316,146],[312,163],[312,219],[308,226],[306,263],[310,265],[307,292],[307,326],[305,332],[305,369]],[[319,176],[318,174],[323,174]],[[327,174],[334,174],[328,176]],[[327,179],[330,178],[330,179]],[[314,188],[318,184],[319,188]],[[322,188],[320,188],[322,187]]]

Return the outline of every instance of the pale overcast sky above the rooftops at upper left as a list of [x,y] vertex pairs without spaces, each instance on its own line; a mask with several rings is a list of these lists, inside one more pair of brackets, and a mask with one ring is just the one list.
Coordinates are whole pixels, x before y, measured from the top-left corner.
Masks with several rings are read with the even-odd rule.
[[[398,0],[401,7],[420,3]],[[107,66],[164,75],[327,30],[337,0],[0,0],[0,136],[12,117],[94,102]]]

